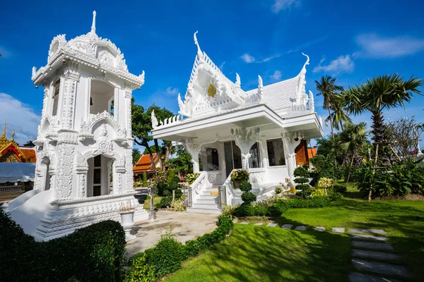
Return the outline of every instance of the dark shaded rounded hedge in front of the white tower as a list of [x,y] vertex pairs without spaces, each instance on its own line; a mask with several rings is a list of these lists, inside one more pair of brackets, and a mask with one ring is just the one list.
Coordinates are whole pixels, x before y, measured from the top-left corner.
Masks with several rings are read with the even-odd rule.
[[121,281],[125,233],[102,221],[64,237],[35,242],[0,209],[0,273],[11,281]]

